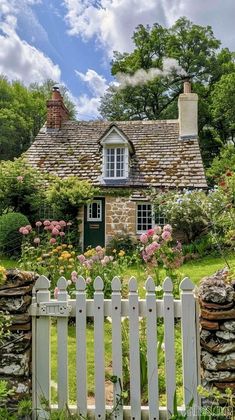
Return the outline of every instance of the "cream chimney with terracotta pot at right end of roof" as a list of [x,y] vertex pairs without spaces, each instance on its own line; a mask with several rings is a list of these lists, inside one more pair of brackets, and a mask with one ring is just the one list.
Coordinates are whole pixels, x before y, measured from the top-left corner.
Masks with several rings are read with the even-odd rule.
[[198,95],[191,92],[191,83],[184,81],[184,93],[179,95],[179,136],[181,139],[198,137]]

